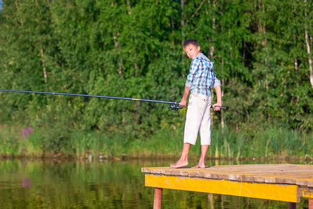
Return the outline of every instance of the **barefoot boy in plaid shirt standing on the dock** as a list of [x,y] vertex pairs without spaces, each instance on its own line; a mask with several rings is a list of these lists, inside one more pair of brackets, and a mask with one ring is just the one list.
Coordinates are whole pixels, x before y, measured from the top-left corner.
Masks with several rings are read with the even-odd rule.
[[183,48],[192,61],[190,73],[185,84],[184,95],[179,106],[186,107],[188,94],[191,93],[191,95],[186,114],[182,155],[175,164],[170,164],[170,167],[177,169],[188,165],[188,153],[191,145],[195,145],[199,132],[201,155],[199,163],[195,168],[205,168],[205,156],[211,144],[210,88],[215,88],[217,102],[213,104],[213,107],[214,111],[219,111],[220,106],[222,106],[220,80],[214,73],[213,61],[209,61],[207,56],[202,54],[197,40],[186,40]]

